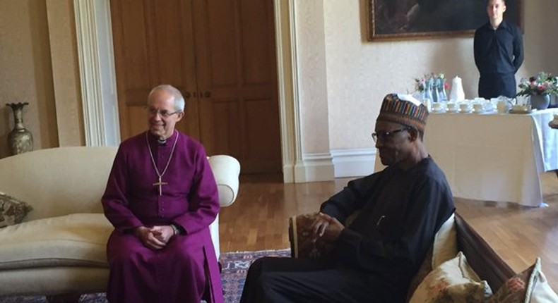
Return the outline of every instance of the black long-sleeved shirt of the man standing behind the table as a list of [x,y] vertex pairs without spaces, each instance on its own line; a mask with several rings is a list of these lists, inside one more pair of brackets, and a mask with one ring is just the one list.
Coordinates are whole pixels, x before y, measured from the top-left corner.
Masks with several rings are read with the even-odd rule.
[[496,30],[486,23],[475,31],[474,50],[481,76],[515,74],[524,56],[521,30],[506,20]]

